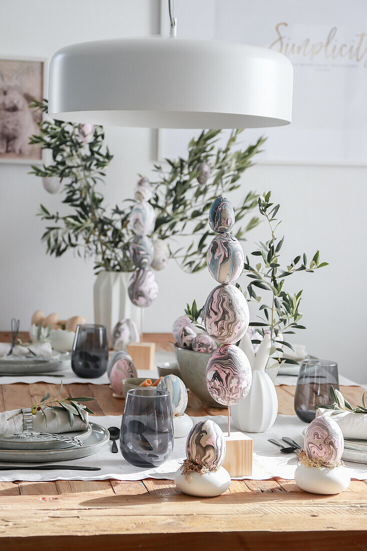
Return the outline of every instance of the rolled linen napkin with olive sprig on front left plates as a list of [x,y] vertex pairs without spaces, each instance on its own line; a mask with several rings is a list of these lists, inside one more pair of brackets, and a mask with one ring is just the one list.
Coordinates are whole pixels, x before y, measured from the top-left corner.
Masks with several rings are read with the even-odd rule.
[[[17,413],[19,415],[17,415]],[[50,408],[46,408],[46,426],[46,420],[42,413],[36,412],[35,415],[33,415],[33,431],[35,433],[62,434],[77,430],[84,430],[87,428],[87,412],[84,412],[84,417],[87,420],[87,424],[83,423],[82,419],[77,417],[77,415],[74,415],[73,426],[70,426],[69,424],[68,414],[66,411],[57,409],[54,410],[54,413],[52,413]],[[15,415],[15,417],[13,417],[13,415]],[[12,417],[12,419],[9,419],[10,417]],[[23,430],[23,414],[20,409],[13,409],[12,411],[0,413],[0,436],[19,434],[23,432]]]

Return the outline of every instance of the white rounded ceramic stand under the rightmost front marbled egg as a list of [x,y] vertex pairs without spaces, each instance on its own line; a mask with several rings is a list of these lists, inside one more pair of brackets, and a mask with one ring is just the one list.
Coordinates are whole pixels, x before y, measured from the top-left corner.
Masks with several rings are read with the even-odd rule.
[[311,494],[338,494],[350,484],[349,469],[344,466],[330,469],[328,467],[306,467],[300,464],[294,473],[296,484],[301,490]]

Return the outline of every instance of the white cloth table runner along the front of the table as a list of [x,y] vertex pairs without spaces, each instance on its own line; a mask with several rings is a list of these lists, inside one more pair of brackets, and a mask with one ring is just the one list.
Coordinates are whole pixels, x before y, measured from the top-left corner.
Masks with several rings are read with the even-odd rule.
[[[120,426],[120,415],[106,415],[105,417],[94,417],[96,423],[108,428],[109,426]],[[194,423],[201,419],[212,419],[220,425],[222,430],[226,431],[227,419],[224,415],[217,417],[193,417]],[[295,415],[278,415],[276,423],[267,433],[249,434],[253,438],[253,473],[251,477],[241,477],[241,479],[267,480],[272,477],[280,477],[287,480],[294,479],[294,471],[297,467],[297,458],[295,455],[284,455],[278,451],[277,447],[269,438],[280,440],[282,436],[288,436],[296,440],[299,444],[303,442],[302,431],[305,428]],[[105,480],[115,478],[117,480],[142,480],[144,478],[157,478],[173,480],[175,472],[186,457],[185,453],[186,439],[175,439],[174,452],[168,461],[157,468],[140,469],[133,467],[122,457],[120,451],[111,453],[110,442],[103,450],[90,457],[84,457],[78,460],[68,460],[68,464],[84,465],[90,467],[101,467],[101,471],[4,471],[1,472],[1,466],[9,463],[0,464],[0,482],[10,482],[12,480]],[[58,461],[57,463],[60,463]],[[350,468],[350,475],[357,480],[367,479],[367,464],[346,463]]]

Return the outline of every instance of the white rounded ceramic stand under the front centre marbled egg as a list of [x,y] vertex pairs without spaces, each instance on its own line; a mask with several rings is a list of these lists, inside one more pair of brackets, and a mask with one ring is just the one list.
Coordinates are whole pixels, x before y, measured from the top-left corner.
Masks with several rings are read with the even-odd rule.
[[231,477],[224,467],[218,471],[208,473],[192,472],[182,473],[180,467],[175,474],[176,487],[184,494],[196,495],[201,498],[212,498],[215,495],[223,494],[230,487]]

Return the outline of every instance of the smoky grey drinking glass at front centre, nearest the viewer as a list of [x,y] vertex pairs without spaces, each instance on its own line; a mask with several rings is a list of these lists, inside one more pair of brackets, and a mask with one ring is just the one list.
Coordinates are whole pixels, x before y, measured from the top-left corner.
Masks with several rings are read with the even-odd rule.
[[159,467],[174,447],[174,429],[169,392],[134,388],[126,395],[120,450],[135,467]]

